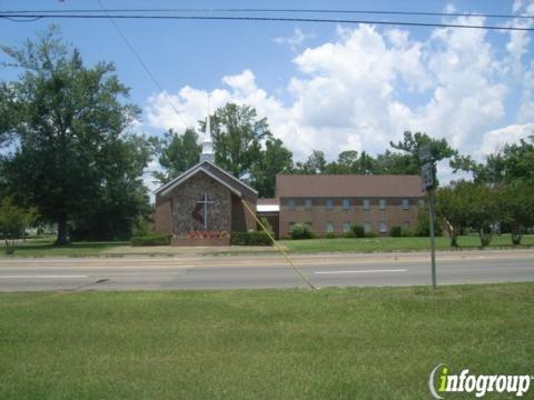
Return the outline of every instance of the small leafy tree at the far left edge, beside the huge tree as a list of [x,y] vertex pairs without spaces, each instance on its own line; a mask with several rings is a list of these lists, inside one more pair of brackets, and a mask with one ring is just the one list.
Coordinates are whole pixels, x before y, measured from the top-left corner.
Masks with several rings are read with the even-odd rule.
[[24,229],[36,222],[37,209],[18,207],[12,197],[4,197],[0,201],[0,236],[6,243],[6,252],[13,252],[17,240],[24,234]]

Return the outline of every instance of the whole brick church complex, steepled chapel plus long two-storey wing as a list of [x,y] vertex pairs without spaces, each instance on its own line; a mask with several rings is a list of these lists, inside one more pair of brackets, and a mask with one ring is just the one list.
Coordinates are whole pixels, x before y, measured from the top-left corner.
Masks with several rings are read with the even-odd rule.
[[154,230],[171,234],[172,244],[228,244],[231,232],[256,230],[245,201],[277,238],[287,238],[294,223],[318,236],[340,236],[353,223],[387,236],[392,227],[416,224],[422,198],[418,176],[278,174],[275,198],[258,199],[215,164],[208,117],[199,162],[156,190]]

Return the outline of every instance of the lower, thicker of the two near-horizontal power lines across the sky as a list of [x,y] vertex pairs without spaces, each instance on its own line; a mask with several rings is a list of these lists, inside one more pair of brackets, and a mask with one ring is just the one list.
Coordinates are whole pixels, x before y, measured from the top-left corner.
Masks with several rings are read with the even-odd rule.
[[505,27],[505,26],[475,26],[461,23],[431,23],[431,22],[409,22],[409,21],[377,21],[377,20],[353,20],[353,19],[323,19],[323,18],[287,18],[287,17],[219,17],[219,16],[102,16],[102,14],[4,14],[0,18],[43,18],[43,19],[150,19],[150,20],[211,20],[211,21],[274,21],[274,22],[319,22],[319,23],[369,23],[382,26],[406,26],[406,27],[427,27],[427,28],[459,28],[459,29],[485,29],[503,31],[534,31],[534,28]]

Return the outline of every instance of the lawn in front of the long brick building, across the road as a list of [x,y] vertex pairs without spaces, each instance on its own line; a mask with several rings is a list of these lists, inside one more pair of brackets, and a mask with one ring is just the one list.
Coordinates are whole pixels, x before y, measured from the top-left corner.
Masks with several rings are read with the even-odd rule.
[[[372,252],[372,251],[417,251],[429,250],[429,238],[358,238],[358,239],[308,239],[308,240],[280,240],[289,252]],[[449,238],[436,238],[436,249],[451,250]],[[521,247],[534,246],[534,234],[525,234]],[[461,249],[477,249],[481,247],[478,236],[462,236],[458,238]],[[514,248],[510,234],[494,234],[487,248]]]

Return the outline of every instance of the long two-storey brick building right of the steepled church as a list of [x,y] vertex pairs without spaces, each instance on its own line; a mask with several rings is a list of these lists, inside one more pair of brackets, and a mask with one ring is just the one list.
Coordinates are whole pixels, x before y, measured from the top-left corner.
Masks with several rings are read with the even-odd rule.
[[280,238],[295,223],[319,236],[342,236],[354,223],[387,236],[417,223],[422,198],[418,176],[278,174],[276,198],[259,199],[257,210]]

